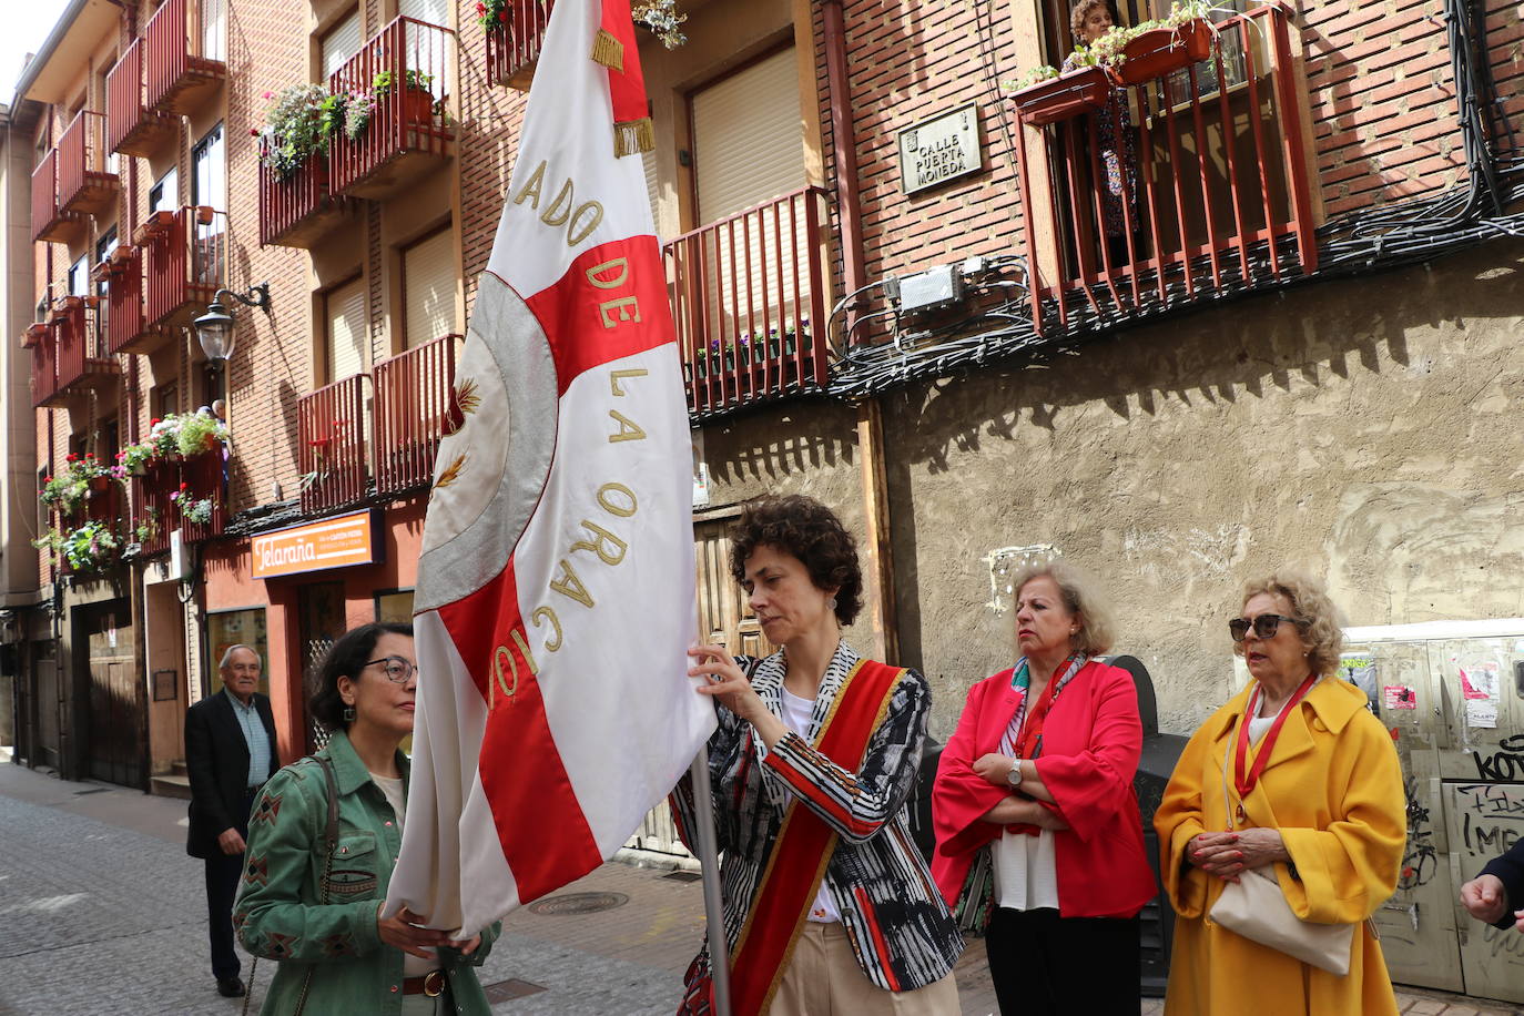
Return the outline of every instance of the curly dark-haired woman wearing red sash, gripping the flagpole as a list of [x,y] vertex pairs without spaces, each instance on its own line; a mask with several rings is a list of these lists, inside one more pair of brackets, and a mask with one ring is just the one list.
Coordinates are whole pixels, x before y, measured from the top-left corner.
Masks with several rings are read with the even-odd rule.
[[[780,652],[692,650],[719,728],[709,768],[736,1016],[952,1013],[963,941],[910,838],[931,693],[841,638],[861,606],[856,547],[818,501],[764,497],[732,530],[730,571]],[[672,794],[684,841],[687,777]],[[681,1013],[710,1008],[707,949]]]

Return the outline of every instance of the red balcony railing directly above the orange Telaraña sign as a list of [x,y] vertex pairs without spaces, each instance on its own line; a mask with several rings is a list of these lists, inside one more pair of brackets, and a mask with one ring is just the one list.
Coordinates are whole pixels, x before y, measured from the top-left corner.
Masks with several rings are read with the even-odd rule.
[[297,466],[302,510],[343,507],[366,494],[364,384],[352,375],[297,402]]

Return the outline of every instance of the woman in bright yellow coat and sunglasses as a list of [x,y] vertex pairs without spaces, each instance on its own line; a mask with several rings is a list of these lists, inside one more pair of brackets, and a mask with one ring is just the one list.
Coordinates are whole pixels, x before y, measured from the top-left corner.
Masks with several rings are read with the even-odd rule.
[[[1245,588],[1228,628],[1254,681],[1192,736],[1154,816],[1180,915],[1164,1011],[1396,1013],[1366,919],[1398,883],[1402,769],[1366,693],[1330,676],[1338,614],[1318,583],[1277,574]],[[1297,917],[1355,925],[1346,976],[1212,920],[1225,882],[1266,865]]]

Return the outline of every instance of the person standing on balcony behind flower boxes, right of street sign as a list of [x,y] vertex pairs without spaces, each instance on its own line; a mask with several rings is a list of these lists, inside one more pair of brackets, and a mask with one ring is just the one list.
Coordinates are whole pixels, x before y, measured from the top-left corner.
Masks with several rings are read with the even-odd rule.
[[[1091,46],[1111,30],[1116,18],[1106,0],[1079,0],[1068,12],[1068,27],[1077,46]],[[1079,67],[1079,53],[1070,53],[1062,73]],[[1132,262],[1131,250],[1143,242],[1143,224],[1138,221],[1138,152],[1128,117],[1128,94],[1125,88],[1113,88],[1106,105],[1091,116],[1097,142],[1097,161],[1102,180],[1091,186],[1100,189],[1106,257],[1113,268]],[[1090,172],[1096,168],[1091,165]],[[1088,207],[1088,204],[1087,204]],[[1129,250],[1131,248],[1131,250]]]

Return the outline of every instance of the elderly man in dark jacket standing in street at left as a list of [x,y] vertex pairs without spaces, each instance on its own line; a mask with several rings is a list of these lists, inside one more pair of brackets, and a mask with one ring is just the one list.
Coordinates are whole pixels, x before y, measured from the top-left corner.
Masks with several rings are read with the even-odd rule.
[[233,646],[218,670],[223,690],[186,713],[190,833],[186,853],[206,861],[206,906],[212,976],[218,993],[244,993],[233,951],[233,896],[244,868],[248,812],[265,780],[280,768],[270,699],[259,695],[259,653]]

